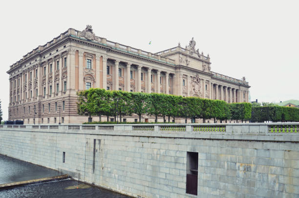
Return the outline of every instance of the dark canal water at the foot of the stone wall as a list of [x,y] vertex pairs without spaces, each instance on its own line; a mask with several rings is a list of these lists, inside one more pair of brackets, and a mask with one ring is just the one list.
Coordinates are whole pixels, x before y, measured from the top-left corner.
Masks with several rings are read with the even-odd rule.
[[[32,163],[0,155],[0,184],[59,175]],[[76,180],[50,181],[0,190],[0,198],[129,198]]]

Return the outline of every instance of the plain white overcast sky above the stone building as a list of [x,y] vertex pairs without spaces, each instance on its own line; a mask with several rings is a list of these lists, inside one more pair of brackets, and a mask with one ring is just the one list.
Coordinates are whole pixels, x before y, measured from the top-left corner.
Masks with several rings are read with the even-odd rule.
[[[0,100],[9,66],[68,28],[156,53],[192,37],[212,71],[249,81],[251,100],[299,99],[298,0],[5,0],[0,4]],[[151,45],[149,41],[151,40]]]

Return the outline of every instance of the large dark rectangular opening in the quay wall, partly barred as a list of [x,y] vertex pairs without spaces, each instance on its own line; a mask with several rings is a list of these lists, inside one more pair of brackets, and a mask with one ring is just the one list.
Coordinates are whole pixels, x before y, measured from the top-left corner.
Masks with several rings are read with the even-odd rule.
[[186,193],[197,195],[198,153],[187,152]]

